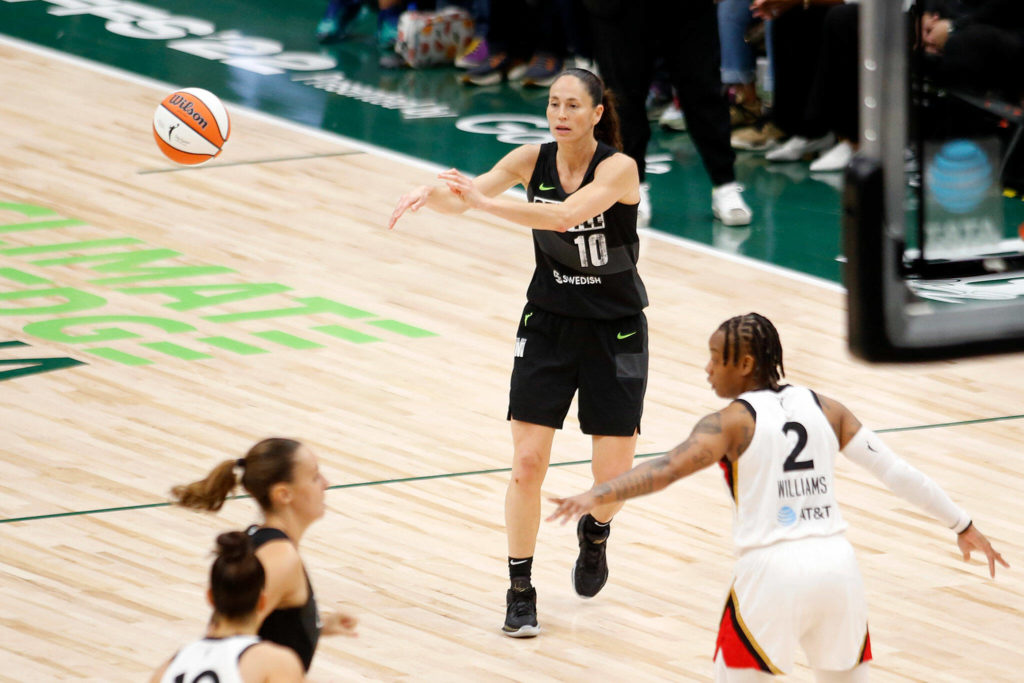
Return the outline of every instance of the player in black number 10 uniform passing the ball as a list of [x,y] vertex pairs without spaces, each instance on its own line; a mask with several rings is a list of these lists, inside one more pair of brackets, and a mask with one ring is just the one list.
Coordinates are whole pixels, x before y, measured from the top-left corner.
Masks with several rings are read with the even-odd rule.
[[[443,186],[403,196],[388,227],[408,210],[486,211],[534,229],[537,269],[519,318],[508,419],[514,456],[505,498],[509,577],[505,634],[540,633],[530,570],[541,520],[541,485],[573,394],[580,427],[593,437],[596,482],[630,469],[647,386],[647,294],[637,272],[636,163],[622,142],[611,93],[589,71],[570,69],[551,85],[555,140],[509,153],[469,178],[452,169]],[[500,197],[526,187],[528,203]],[[597,595],[608,577],[605,545],[612,503],[580,520],[577,593]]]

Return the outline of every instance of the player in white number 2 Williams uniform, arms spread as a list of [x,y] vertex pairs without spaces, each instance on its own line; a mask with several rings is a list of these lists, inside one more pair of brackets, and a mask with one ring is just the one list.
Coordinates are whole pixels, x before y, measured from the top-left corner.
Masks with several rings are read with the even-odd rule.
[[782,347],[767,318],[730,318],[709,345],[708,381],[732,402],[702,418],[662,458],[580,496],[554,499],[558,509],[549,520],[659,490],[718,462],[735,504],[737,560],[719,625],[716,681],[787,673],[798,645],[818,681],[867,680],[864,587],[834,493],[840,451],[951,528],[965,560],[983,552],[993,578],[996,562],[1009,566],[966,512],[843,404],[779,384]]

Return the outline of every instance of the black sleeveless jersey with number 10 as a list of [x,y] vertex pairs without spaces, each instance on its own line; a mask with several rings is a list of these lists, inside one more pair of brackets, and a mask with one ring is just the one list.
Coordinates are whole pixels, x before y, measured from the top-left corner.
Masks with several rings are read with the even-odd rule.
[[[557,142],[541,145],[526,187],[530,202],[561,203],[569,195],[558,179]],[[615,154],[597,143],[581,187],[594,180],[594,169]],[[647,305],[647,291],[637,272],[640,241],[637,205],[616,202],[604,213],[565,232],[534,230],[537,269],[526,298],[552,313],[614,319],[636,315]]]

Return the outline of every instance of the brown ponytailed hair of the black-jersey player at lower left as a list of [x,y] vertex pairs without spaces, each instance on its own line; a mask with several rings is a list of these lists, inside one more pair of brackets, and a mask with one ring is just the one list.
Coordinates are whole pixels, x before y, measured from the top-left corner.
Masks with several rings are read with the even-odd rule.
[[[245,458],[225,460],[204,479],[171,488],[175,503],[196,510],[215,512],[239,483],[264,510],[270,509],[270,488],[292,480],[295,453],[302,444],[290,438],[265,438],[249,449]],[[242,469],[241,481],[234,468]]]

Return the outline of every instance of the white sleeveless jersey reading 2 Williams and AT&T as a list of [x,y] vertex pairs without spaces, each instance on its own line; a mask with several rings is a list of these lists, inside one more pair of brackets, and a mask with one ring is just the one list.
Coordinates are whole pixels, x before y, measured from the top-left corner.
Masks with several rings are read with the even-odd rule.
[[735,504],[736,553],[846,529],[834,490],[839,439],[810,389],[748,391],[754,438],[739,460],[722,459]]

